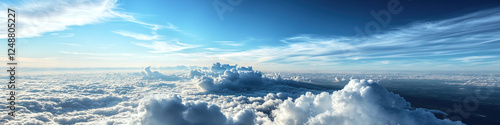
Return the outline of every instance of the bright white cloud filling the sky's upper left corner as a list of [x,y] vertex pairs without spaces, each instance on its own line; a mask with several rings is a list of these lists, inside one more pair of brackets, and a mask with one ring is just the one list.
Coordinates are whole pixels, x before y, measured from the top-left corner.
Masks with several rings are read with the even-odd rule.
[[[69,26],[82,26],[111,19],[148,26],[154,31],[162,28],[181,31],[170,23],[167,26],[146,23],[136,19],[132,14],[119,11],[117,0],[24,0],[18,2],[18,5],[2,4],[1,6],[5,8],[15,6],[16,11],[23,12],[16,15],[16,23],[19,24],[16,28],[20,38],[39,37],[43,33],[66,30]],[[6,9],[0,12],[7,13]],[[7,17],[0,17],[0,20],[2,20],[0,24],[7,24]],[[1,31],[0,38],[6,38],[5,34],[7,34],[6,31]]]

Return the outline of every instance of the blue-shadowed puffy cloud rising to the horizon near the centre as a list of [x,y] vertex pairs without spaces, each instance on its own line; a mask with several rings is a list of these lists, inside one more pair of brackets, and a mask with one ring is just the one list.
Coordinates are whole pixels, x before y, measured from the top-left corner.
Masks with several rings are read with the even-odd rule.
[[317,86],[294,80],[268,78],[252,67],[237,67],[229,64],[215,63],[210,70],[191,70],[190,77],[199,77],[199,86],[206,91],[242,91],[269,89],[282,85],[298,88],[314,88]]

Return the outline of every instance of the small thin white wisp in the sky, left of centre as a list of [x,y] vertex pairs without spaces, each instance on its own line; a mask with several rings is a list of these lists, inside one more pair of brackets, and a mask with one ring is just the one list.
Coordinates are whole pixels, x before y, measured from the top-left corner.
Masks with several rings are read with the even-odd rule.
[[149,51],[151,53],[167,53],[167,52],[175,52],[189,48],[196,48],[196,45],[189,45],[185,43],[181,43],[177,40],[173,40],[170,42],[162,42],[162,41],[154,41],[151,44],[146,43],[133,43],[138,46],[146,47],[153,49],[153,51]]

